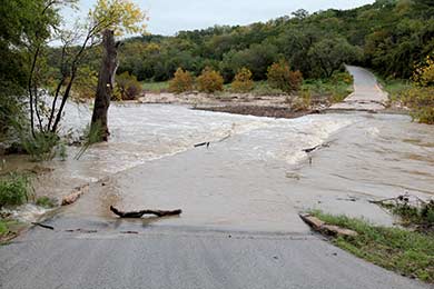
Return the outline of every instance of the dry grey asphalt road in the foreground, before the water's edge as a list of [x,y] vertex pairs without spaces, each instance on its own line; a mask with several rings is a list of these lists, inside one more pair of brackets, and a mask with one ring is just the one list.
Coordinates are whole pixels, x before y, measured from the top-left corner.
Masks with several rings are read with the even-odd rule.
[[[0,287],[31,288],[428,288],[314,235],[50,222],[1,247]],[[60,229],[62,228],[62,229]],[[136,230],[139,233],[121,233]]]

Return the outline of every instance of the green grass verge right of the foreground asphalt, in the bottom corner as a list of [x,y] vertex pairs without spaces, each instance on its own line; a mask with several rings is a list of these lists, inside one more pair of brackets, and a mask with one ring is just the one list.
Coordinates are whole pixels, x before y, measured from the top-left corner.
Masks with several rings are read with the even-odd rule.
[[329,225],[358,233],[352,238],[334,238],[333,242],[339,248],[403,276],[434,283],[433,232],[376,227],[364,220],[320,211],[310,213]]

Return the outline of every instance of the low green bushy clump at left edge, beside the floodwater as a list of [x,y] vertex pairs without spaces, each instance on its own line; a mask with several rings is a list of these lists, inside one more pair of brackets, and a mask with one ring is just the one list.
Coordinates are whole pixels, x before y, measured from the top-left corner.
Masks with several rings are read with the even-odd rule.
[[29,200],[29,178],[22,175],[10,173],[0,179],[0,208],[4,206],[20,206]]

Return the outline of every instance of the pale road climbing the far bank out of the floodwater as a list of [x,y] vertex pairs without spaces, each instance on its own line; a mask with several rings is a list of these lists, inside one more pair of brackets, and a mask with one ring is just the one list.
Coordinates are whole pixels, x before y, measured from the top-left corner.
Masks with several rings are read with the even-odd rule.
[[359,67],[347,66],[354,77],[354,92],[343,102],[331,107],[332,110],[378,111],[385,108],[387,93],[382,91],[375,76]]

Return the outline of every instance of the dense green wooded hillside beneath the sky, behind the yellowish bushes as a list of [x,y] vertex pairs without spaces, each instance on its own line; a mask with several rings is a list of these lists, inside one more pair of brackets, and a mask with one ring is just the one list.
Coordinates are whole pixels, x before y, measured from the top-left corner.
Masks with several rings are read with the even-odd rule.
[[343,62],[410,78],[433,50],[433,0],[377,0],[353,10],[298,10],[266,23],[129,39],[119,73],[164,81],[179,67],[196,76],[210,67],[231,81],[246,67],[262,80],[267,68],[284,58],[305,78],[331,77]]

